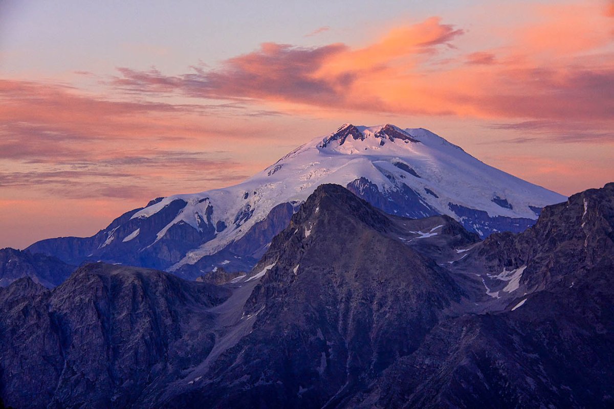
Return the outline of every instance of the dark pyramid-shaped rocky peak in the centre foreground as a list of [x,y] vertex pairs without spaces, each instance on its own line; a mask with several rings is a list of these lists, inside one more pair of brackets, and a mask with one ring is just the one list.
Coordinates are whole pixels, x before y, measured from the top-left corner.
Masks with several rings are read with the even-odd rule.
[[390,217],[317,188],[254,269],[269,267],[244,308],[253,332],[168,405],[335,406],[418,348],[462,291]]

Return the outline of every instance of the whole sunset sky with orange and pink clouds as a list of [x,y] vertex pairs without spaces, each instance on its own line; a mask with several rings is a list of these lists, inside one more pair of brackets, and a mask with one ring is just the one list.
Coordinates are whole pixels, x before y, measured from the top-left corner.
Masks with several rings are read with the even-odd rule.
[[614,1],[0,0],[0,248],[233,185],[343,123],[614,181]]

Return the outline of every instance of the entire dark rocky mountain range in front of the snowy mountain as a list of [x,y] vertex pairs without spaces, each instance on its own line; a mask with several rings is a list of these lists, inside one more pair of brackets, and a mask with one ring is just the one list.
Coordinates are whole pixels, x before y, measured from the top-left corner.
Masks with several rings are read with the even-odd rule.
[[[484,240],[318,186],[250,272],[0,288],[19,408],[608,408],[614,183]],[[217,283],[213,284],[212,281]]]

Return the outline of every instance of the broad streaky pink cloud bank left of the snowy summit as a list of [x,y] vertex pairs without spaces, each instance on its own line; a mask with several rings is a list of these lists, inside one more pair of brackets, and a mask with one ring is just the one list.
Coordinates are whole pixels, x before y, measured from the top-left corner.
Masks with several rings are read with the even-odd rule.
[[254,164],[230,159],[224,141],[257,140],[258,118],[282,115],[239,102],[111,100],[18,80],[0,80],[0,104],[0,201],[17,192],[145,200],[177,185],[237,183]]

